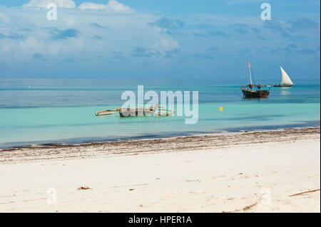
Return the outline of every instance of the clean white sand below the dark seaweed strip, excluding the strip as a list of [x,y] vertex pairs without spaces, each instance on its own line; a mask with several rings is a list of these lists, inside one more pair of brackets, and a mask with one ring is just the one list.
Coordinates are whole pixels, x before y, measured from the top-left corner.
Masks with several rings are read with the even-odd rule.
[[[1,212],[320,212],[320,137],[0,164]],[[77,190],[90,186],[88,190]],[[47,189],[57,191],[49,206]]]

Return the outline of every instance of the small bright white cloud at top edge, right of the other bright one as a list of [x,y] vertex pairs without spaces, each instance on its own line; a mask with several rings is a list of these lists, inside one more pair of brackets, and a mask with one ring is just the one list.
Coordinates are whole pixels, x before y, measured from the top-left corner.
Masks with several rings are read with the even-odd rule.
[[84,2],[79,9],[103,9],[106,11],[117,12],[117,13],[133,13],[135,10],[131,7],[119,3],[116,0],[109,0],[107,4],[96,4],[93,2]]

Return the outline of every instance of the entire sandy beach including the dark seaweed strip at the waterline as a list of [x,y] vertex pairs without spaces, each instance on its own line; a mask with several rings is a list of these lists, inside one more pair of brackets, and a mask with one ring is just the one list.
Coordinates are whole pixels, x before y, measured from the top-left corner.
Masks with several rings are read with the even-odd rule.
[[320,212],[320,127],[0,149],[0,174],[0,212]]

